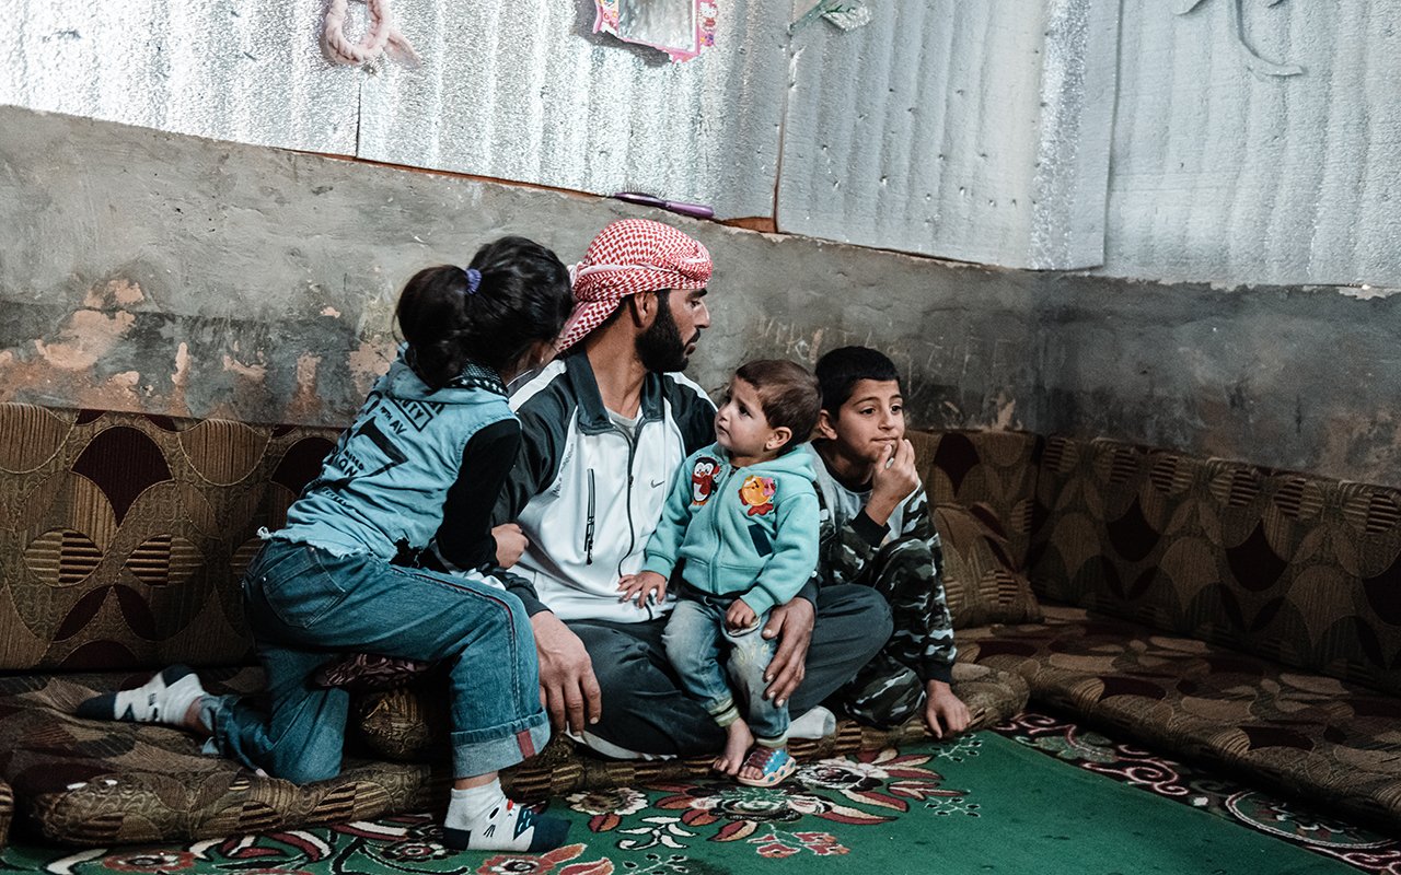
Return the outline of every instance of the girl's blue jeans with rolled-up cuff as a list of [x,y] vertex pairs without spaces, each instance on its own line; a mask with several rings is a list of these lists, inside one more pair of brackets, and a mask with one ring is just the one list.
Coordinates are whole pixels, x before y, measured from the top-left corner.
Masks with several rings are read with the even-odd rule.
[[270,707],[224,696],[206,713],[219,750],[254,769],[297,784],[340,771],[350,697],[312,675],[345,651],[451,665],[455,777],[513,766],[549,741],[530,617],[489,584],[270,540],[244,575],[244,610]]

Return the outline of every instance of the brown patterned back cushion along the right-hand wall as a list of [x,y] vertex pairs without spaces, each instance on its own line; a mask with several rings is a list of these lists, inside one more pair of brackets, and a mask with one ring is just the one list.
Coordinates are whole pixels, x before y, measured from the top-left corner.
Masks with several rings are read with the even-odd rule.
[[1401,490],[1051,438],[1038,595],[1401,693]]

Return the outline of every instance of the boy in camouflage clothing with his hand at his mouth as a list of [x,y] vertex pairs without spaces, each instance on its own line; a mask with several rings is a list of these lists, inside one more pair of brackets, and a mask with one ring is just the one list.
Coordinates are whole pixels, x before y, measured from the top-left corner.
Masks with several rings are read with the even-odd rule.
[[923,711],[934,738],[968,728],[948,686],[954,633],[944,602],[943,552],[905,440],[895,364],[860,346],[817,363],[822,391],[811,454],[822,504],[818,584],[863,582],[891,605],[895,631],[841,693],[848,711],[899,725]]

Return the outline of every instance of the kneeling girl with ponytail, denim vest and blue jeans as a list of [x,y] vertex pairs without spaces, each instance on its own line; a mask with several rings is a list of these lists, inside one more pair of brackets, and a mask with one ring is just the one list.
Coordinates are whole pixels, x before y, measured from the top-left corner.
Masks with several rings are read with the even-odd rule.
[[[544,748],[549,725],[530,620],[488,574],[490,510],[520,441],[504,381],[551,356],[572,305],[565,266],[518,237],[482,246],[467,269],[419,272],[395,312],[399,357],[244,577],[270,711],[207,696],[172,666],[78,713],[185,727],[301,784],[340,770],[349,694],[312,680],[322,664],[345,651],[446,661],[457,780],[444,844],[558,847],[569,825],[509,801],[497,780]],[[434,564],[453,574],[391,564],[440,529],[454,536]]]

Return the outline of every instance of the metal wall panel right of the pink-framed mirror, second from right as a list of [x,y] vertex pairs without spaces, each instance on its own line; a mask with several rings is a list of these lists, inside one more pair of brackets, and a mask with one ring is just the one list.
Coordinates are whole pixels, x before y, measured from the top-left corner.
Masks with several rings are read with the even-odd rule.
[[[801,31],[780,230],[1020,267],[1098,265],[1115,22],[1104,0],[937,0],[881,8],[859,31]],[[1044,88],[1048,57],[1059,66]]]

